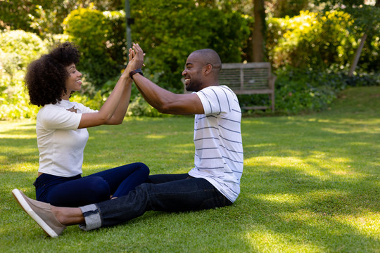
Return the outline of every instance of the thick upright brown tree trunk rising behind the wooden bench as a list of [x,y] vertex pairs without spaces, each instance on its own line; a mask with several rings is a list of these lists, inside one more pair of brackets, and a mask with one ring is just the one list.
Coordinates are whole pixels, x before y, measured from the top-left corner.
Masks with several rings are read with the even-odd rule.
[[255,15],[255,25],[253,25],[252,53],[253,62],[264,61],[265,48],[265,10],[263,0],[253,0],[253,15]]

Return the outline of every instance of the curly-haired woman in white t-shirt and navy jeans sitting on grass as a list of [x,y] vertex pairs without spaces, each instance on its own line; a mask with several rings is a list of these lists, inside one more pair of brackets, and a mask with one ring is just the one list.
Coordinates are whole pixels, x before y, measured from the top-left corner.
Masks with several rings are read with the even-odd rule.
[[30,102],[42,106],[36,124],[36,198],[58,206],[79,207],[126,195],[144,183],[149,174],[148,167],[137,162],[81,176],[83,151],[89,138],[87,127],[122,123],[132,79],[127,66],[101,109],[91,110],[69,101],[70,95],[82,86],[82,74],[76,68],[79,60],[77,48],[65,42],[30,63],[25,76]]

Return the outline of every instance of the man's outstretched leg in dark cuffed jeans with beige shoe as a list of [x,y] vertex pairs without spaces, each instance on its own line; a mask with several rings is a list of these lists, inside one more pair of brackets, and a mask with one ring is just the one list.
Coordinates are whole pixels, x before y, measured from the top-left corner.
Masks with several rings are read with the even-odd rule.
[[53,207],[32,200],[17,189],[12,193],[25,212],[52,237],[60,235],[65,226],[86,223],[81,226],[84,230],[113,226],[149,210],[179,212],[232,205],[208,181],[194,178],[144,183],[128,195],[80,208]]

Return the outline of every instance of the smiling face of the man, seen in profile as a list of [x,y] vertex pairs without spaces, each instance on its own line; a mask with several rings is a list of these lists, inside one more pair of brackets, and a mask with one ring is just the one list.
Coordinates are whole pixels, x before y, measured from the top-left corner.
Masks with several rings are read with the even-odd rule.
[[203,63],[201,63],[196,54],[191,53],[186,60],[182,76],[185,79],[186,91],[200,91],[202,87],[202,70]]

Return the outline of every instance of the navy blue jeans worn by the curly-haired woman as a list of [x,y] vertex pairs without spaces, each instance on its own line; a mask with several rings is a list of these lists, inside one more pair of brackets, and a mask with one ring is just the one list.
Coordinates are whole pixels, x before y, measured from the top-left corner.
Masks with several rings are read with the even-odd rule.
[[89,176],[65,178],[42,174],[33,183],[36,198],[58,207],[80,207],[113,197],[127,195],[136,186],[148,180],[149,168],[135,162]]

